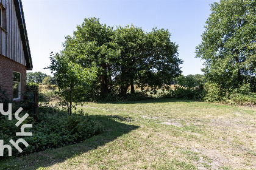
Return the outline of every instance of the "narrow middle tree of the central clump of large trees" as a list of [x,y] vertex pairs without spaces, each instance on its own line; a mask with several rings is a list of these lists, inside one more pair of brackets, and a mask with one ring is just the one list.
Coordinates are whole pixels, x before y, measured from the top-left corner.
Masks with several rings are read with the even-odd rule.
[[141,28],[134,25],[117,27],[113,41],[118,44],[120,55],[118,62],[113,67],[115,70],[115,86],[119,87],[119,93],[126,95],[131,86],[131,94],[135,93],[134,81],[141,70],[143,58],[145,58],[146,38]]

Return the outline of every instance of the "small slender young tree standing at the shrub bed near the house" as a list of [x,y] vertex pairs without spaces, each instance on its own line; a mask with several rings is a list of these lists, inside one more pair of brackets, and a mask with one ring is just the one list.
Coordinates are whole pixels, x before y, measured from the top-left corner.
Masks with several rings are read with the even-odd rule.
[[72,103],[79,103],[84,94],[90,89],[91,82],[96,78],[96,69],[84,69],[79,64],[73,63],[62,54],[51,53],[51,65],[47,67],[54,74],[60,95],[68,103],[68,112],[72,114]]

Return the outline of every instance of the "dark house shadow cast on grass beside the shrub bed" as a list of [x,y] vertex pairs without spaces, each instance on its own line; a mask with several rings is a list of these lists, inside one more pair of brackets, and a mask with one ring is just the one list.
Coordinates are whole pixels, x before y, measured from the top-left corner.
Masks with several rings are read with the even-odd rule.
[[[112,115],[90,115],[90,117],[99,120],[104,126],[104,131],[101,134],[94,135],[82,143],[71,144],[62,148],[48,149],[21,157],[10,157],[7,160],[0,161],[0,169],[34,170],[52,166],[77,155],[82,155],[99,146],[104,146],[106,143],[121,137],[121,135],[128,134],[130,131],[138,128],[138,126],[126,124],[126,122],[131,121],[129,117]],[[122,123],[119,121],[122,121]]]

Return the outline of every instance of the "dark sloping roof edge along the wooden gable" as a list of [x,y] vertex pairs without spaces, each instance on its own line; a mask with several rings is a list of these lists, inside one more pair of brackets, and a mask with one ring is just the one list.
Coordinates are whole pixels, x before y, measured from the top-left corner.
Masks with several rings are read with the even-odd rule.
[[25,22],[24,13],[23,13],[22,2],[21,0],[13,0],[13,2],[15,5],[16,16],[18,18],[18,25],[20,28],[21,41],[23,44],[27,70],[32,70],[33,64],[32,64],[32,58],[30,54],[30,48],[29,48],[29,39],[27,38],[27,29],[26,29],[26,22]]

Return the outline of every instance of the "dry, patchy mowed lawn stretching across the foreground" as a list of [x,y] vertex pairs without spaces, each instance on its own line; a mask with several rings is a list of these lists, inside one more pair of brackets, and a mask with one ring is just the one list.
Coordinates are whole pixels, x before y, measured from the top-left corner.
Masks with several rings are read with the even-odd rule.
[[156,99],[79,109],[104,132],[0,169],[256,169],[256,108]]

